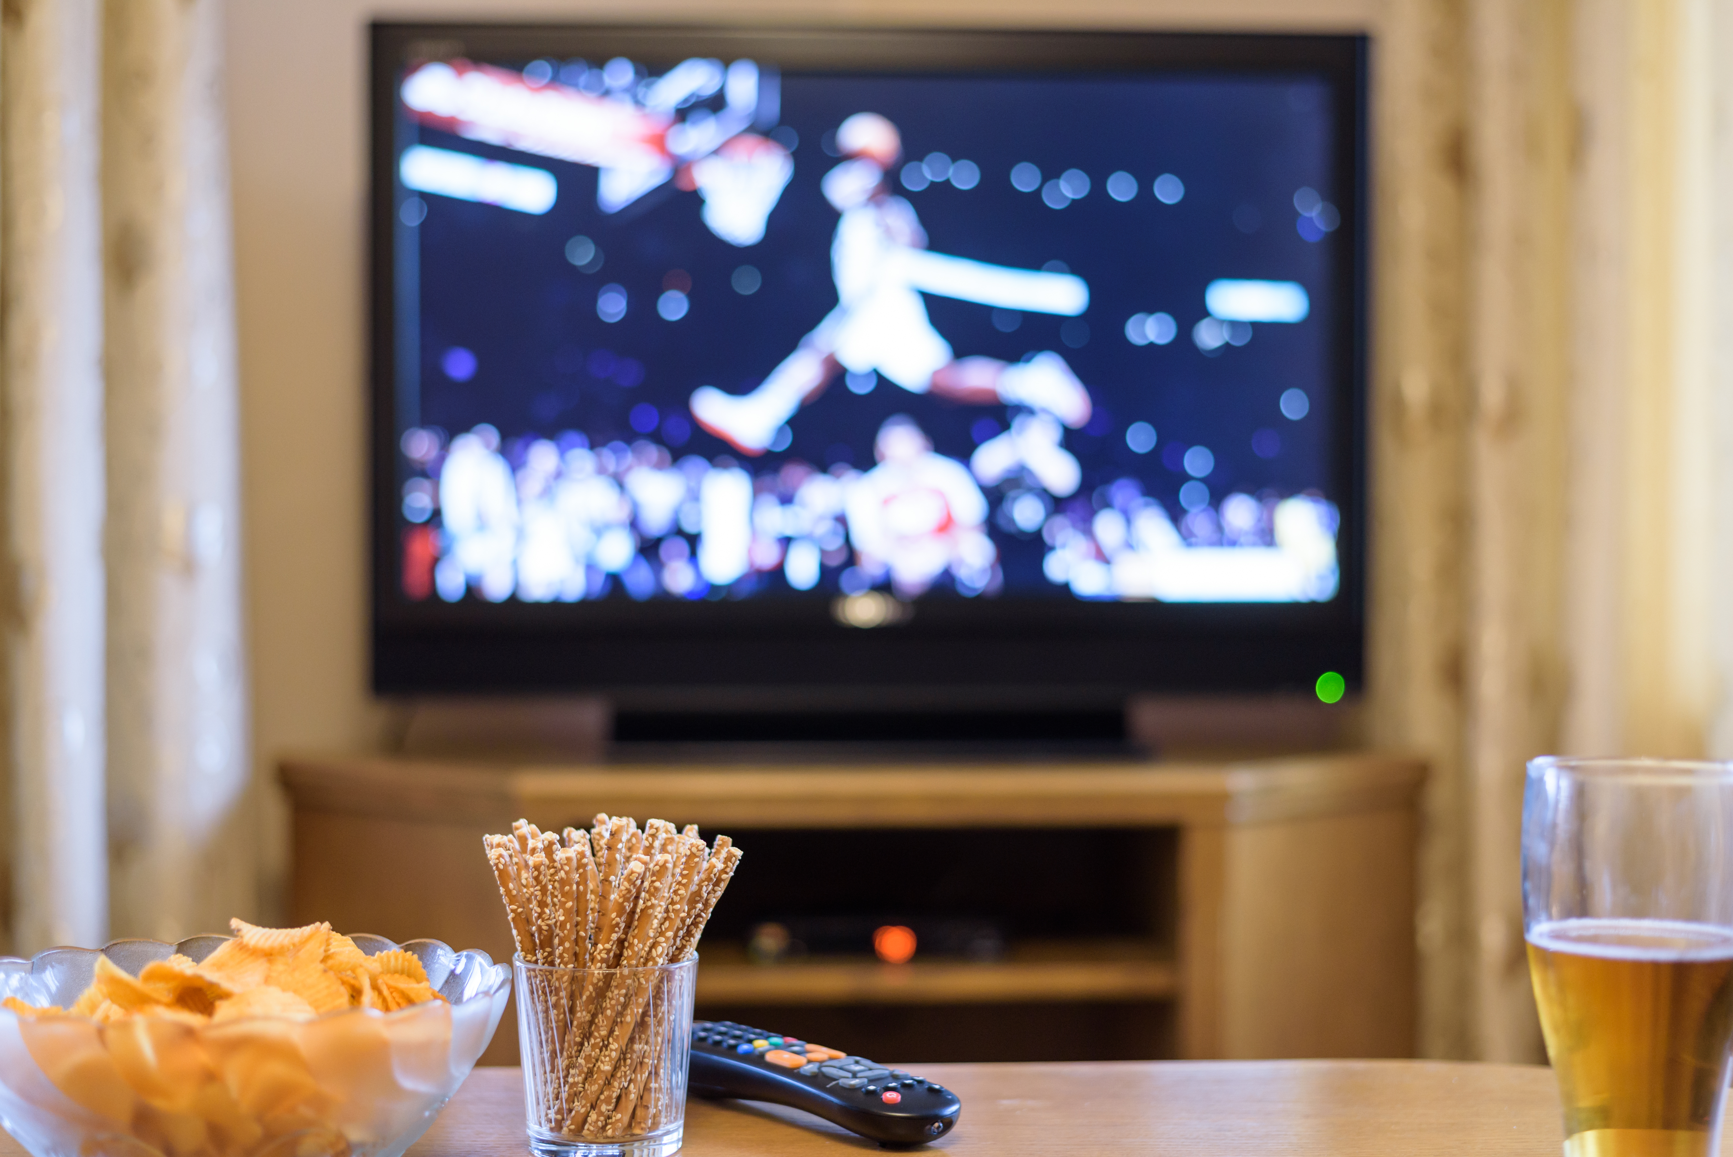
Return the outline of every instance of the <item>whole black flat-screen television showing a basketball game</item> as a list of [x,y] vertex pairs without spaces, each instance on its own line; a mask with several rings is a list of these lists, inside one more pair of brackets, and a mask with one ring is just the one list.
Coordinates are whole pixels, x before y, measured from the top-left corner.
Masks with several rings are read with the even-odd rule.
[[374,24],[374,688],[1352,689],[1366,52]]

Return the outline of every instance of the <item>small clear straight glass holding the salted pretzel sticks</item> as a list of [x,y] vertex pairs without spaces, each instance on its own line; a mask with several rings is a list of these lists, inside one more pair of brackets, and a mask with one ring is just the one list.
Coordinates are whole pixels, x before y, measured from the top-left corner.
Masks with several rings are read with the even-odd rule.
[[671,1157],[686,1126],[698,958],[549,968],[513,958],[535,1157]]

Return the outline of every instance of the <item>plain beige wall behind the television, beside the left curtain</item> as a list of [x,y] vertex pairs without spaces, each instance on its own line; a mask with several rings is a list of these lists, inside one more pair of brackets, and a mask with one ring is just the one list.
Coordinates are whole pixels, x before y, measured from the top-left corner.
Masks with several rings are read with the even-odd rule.
[[[369,19],[780,19],[1054,24],[1047,0],[572,3],[229,0],[244,537],[260,774],[291,748],[366,750],[366,24]],[[1362,29],[1379,0],[1080,0],[1078,26]],[[274,792],[270,793],[274,797]],[[265,811],[265,911],[286,842]]]

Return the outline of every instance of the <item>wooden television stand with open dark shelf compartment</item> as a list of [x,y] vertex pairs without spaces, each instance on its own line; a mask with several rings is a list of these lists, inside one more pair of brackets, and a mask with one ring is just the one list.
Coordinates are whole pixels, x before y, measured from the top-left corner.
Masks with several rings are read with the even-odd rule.
[[[1407,1057],[1423,766],[925,760],[549,766],[296,757],[291,920],[511,954],[480,835],[598,811],[726,831],[747,859],[698,1012],[873,1057]],[[870,857],[870,859],[868,859]],[[825,864],[873,863],[872,873]],[[1003,921],[996,960],[747,958],[783,913]],[[823,911],[821,911],[823,909]],[[503,1032],[487,1063],[510,1063]]]

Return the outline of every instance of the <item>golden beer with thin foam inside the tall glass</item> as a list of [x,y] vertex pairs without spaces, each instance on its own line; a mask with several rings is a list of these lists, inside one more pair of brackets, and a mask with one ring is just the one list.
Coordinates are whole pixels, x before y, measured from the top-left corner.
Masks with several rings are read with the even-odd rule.
[[1733,1048],[1733,928],[1555,920],[1529,973],[1567,1157],[1712,1157]]

